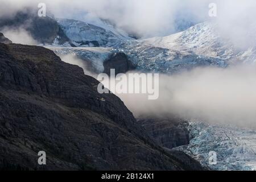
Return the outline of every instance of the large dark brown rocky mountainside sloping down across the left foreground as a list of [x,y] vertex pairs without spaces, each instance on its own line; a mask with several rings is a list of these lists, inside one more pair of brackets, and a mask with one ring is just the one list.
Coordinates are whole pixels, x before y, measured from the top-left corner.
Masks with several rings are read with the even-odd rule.
[[46,48],[0,43],[0,169],[203,169],[152,142],[97,85]]

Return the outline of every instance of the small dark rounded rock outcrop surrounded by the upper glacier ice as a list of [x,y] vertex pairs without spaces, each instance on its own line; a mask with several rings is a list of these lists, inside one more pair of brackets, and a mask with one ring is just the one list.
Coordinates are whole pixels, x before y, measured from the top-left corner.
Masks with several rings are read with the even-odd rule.
[[126,73],[135,69],[133,63],[127,58],[125,53],[113,53],[104,63],[104,73],[110,75],[110,69],[115,69],[115,75],[118,73]]

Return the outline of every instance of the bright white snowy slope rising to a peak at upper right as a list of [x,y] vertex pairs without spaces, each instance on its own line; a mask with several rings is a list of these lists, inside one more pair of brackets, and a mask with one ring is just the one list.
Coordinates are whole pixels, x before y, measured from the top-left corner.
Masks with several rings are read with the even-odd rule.
[[214,22],[199,23],[176,34],[143,41],[158,47],[191,51],[197,55],[217,57],[230,62],[256,61],[256,43],[254,47],[238,48],[220,34]]

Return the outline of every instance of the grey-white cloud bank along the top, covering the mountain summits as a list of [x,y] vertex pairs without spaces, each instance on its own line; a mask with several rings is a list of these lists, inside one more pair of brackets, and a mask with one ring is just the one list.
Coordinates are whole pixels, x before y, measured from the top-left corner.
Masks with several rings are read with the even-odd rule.
[[[107,19],[116,27],[142,38],[170,35],[176,31],[176,21],[180,19],[187,22],[216,21],[224,37],[230,36],[234,43],[242,45],[251,38],[250,34],[255,35],[256,2],[253,0],[246,3],[239,0],[0,0],[0,16],[13,15],[25,7],[37,9],[39,2],[46,3],[47,13],[56,18],[94,24],[100,22],[99,19]],[[216,17],[209,17],[209,3],[216,3]]]

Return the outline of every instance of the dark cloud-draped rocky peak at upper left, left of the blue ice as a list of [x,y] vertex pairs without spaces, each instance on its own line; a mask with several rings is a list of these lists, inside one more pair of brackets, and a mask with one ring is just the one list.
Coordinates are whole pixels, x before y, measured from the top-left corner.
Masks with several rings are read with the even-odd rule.
[[19,11],[12,17],[0,18],[0,30],[5,28],[23,28],[31,34],[33,39],[42,44],[69,42],[55,19],[48,16],[39,17],[37,11],[31,9]]

